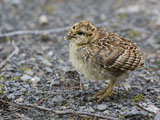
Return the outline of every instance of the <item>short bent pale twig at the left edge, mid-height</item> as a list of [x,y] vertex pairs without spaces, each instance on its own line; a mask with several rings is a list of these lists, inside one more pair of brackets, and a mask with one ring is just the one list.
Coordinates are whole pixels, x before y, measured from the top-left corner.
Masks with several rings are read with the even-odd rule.
[[15,45],[14,42],[12,42],[14,51],[4,60],[0,63],[0,69],[14,56],[19,53],[19,48]]

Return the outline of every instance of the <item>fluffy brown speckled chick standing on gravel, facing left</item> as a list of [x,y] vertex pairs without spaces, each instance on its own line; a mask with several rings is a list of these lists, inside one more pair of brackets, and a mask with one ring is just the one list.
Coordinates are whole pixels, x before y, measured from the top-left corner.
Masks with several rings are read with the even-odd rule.
[[136,43],[98,28],[90,21],[75,23],[64,39],[70,41],[69,61],[86,80],[109,80],[104,90],[92,96],[98,102],[115,94],[117,82],[144,66],[142,52]]

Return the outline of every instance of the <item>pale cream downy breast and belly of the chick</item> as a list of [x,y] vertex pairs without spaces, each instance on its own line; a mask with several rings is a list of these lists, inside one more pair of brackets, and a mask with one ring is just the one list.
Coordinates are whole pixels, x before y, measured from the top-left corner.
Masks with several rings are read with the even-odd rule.
[[72,43],[70,44],[70,62],[88,80],[107,80],[112,77],[109,72],[92,61],[86,49]]

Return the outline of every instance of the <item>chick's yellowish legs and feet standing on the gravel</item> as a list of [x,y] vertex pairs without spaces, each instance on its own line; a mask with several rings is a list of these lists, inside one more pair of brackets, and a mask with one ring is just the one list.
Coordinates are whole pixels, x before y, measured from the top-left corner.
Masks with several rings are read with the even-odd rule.
[[93,95],[93,98],[98,98],[98,102],[102,101],[106,96],[111,96],[112,94],[116,94],[113,91],[113,88],[116,84],[115,80],[110,80],[110,83],[108,87],[106,87],[104,90],[101,90],[97,92],[95,95]]

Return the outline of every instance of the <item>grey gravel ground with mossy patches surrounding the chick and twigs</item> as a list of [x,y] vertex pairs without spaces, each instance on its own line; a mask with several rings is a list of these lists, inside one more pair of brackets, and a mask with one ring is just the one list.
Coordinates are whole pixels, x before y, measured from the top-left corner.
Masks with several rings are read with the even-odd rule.
[[[66,32],[0,38],[0,63],[14,50],[11,41],[19,48],[18,55],[0,70],[0,99],[116,119],[159,120],[159,6],[159,0],[1,0],[0,33],[60,28],[80,20],[95,24],[105,22],[104,28],[130,38],[140,46],[146,67],[134,71],[127,79],[131,85],[129,92],[116,87],[116,95],[98,104],[87,98],[104,88],[107,81],[85,81],[75,71],[68,61],[69,43],[63,39]],[[11,119],[91,118],[16,108],[0,102],[0,120]]]

